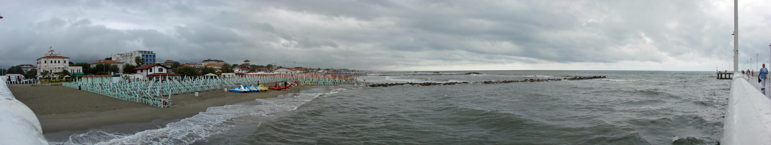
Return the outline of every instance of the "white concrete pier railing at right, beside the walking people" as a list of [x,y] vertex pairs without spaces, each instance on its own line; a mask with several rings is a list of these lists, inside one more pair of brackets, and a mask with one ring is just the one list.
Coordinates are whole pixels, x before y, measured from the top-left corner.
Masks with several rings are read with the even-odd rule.
[[771,99],[734,73],[720,144],[771,144]]

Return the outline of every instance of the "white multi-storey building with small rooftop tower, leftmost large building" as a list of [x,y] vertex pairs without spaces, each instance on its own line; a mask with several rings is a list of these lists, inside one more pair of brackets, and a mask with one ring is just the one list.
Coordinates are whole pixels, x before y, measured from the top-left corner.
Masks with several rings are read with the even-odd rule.
[[[48,71],[49,73],[59,73],[63,70],[69,71],[69,76],[79,76],[83,73],[83,67],[82,66],[69,66],[69,57],[62,56],[61,54],[54,53],[53,50],[50,50],[48,53],[45,54],[45,56],[41,57],[40,59],[37,59],[37,67],[38,67],[38,73],[37,75],[40,76],[40,73],[43,71]],[[52,78],[57,78],[58,76],[52,75]]]

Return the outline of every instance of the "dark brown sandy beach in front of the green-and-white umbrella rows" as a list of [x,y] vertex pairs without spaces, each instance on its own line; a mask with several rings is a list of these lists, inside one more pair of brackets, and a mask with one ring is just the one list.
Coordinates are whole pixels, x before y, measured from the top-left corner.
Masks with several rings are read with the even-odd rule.
[[[89,130],[119,123],[148,123],[155,119],[170,120],[194,116],[212,106],[224,106],[254,99],[298,93],[298,87],[284,91],[232,93],[212,90],[171,96],[170,107],[159,108],[66,86],[16,86],[11,92],[38,116],[43,133],[65,130]],[[167,98],[165,96],[164,98]]]

